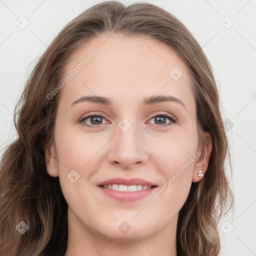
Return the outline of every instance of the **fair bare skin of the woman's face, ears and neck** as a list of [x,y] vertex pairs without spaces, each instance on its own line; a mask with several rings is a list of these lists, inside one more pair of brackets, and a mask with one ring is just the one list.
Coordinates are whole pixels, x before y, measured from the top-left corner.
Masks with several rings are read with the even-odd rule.
[[[68,245],[65,256],[176,255],[178,211],[198,170],[207,169],[206,146],[198,144],[195,99],[184,62],[169,47],[150,37],[103,33],[76,50],[66,65],[65,75],[97,48],[94,58],[62,88],[57,107],[54,143],[45,149],[47,172],[59,176],[68,203]],[[110,36],[110,37],[109,37]],[[178,67],[182,76],[169,72]],[[64,75],[64,76],[65,76]],[[79,102],[81,96],[107,96],[111,105]],[[175,101],[143,105],[146,96],[172,95]],[[103,116],[98,127],[78,120],[89,113]],[[154,116],[167,113],[158,124]],[[131,127],[118,123],[126,118]],[[83,121],[93,124],[90,118]],[[161,126],[171,123],[169,126]],[[159,189],[196,151],[200,157],[168,186],[154,202],[148,196],[120,202],[105,195],[99,182],[114,177],[139,177]],[[72,183],[67,174],[75,169],[80,178]],[[155,190],[152,194],[155,193]],[[127,233],[118,226],[126,221]]]

